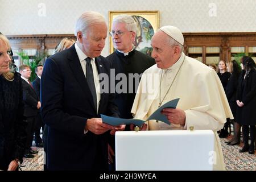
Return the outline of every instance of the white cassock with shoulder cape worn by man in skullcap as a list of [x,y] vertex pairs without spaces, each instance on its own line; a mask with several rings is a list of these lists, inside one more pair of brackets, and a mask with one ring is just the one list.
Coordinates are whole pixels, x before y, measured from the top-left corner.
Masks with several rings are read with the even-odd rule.
[[[162,81],[160,81],[161,75]],[[142,75],[131,109],[134,118],[146,120],[158,109],[160,96],[161,101],[164,98],[161,105],[180,98],[177,108],[185,111],[185,126],[149,121],[148,130],[186,130],[190,126],[194,126],[195,130],[213,130],[216,151],[216,164],[213,169],[225,170],[217,131],[223,128],[226,118],[232,119],[233,115],[216,72],[207,65],[185,56],[184,53],[168,69],[160,69],[153,65]]]

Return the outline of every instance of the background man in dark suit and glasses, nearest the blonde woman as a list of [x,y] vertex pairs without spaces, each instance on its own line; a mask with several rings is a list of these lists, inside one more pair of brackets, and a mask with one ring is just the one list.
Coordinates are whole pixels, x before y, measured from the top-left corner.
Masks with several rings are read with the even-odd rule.
[[37,154],[38,151],[32,150],[32,141],[34,137],[36,114],[41,107],[39,97],[35,92],[30,80],[31,69],[28,65],[20,65],[19,73],[22,77],[22,89],[23,89],[23,102],[24,102],[24,116],[27,117],[27,143],[24,152],[25,158],[34,158],[33,154]]

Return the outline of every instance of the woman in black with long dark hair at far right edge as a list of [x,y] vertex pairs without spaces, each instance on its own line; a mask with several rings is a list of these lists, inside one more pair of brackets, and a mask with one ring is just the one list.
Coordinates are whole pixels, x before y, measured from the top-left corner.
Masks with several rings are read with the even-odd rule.
[[[254,154],[256,134],[256,71],[251,57],[243,56],[242,64],[245,69],[240,75],[237,88],[237,122],[242,125],[244,146],[240,152],[249,151]],[[251,143],[249,146],[249,130]]]

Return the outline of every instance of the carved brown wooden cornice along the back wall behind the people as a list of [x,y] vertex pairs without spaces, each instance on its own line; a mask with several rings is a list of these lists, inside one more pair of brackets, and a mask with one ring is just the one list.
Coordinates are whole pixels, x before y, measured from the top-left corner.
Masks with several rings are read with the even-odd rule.
[[[205,52],[207,47],[219,47],[219,58],[230,60],[231,47],[245,47],[248,53],[249,47],[256,47],[256,32],[227,32],[227,33],[183,33],[184,52],[189,55],[189,47],[202,47],[201,61],[206,63]],[[13,49],[54,49],[61,39],[68,37],[76,40],[73,34],[56,35],[8,35]],[[256,52],[255,52],[256,54]]]

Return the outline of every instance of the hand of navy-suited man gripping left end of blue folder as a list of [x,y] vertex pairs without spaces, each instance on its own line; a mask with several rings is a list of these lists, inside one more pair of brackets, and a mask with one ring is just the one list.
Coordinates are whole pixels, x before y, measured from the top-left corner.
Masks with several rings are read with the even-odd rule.
[[102,122],[101,118],[87,119],[85,130],[89,130],[96,135],[105,133],[108,130],[114,129],[114,126]]

